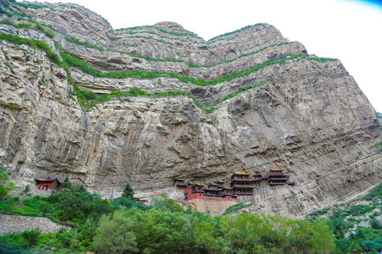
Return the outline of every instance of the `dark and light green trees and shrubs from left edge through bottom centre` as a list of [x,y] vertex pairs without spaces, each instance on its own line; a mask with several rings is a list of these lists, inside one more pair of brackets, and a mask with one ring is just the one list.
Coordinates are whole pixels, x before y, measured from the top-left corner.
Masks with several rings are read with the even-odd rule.
[[6,200],[7,207],[16,208],[13,214],[32,210],[73,229],[0,236],[2,253],[329,253],[335,248],[326,222],[253,214],[213,218],[183,210],[166,195],[146,207],[129,198],[108,202],[66,183],[47,198]]

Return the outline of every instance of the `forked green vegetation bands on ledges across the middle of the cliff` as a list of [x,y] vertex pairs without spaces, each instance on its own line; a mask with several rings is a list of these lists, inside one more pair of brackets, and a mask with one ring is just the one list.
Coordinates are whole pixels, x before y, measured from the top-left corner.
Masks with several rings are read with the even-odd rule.
[[[42,49],[43,51],[46,52],[48,58],[54,62],[57,63],[59,66],[62,66],[66,69],[68,72],[68,81],[73,85],[74,87],[74,95],[76,95],[77,100],[79,104],[81,105],[82,109],[84,111],[87,111],[88,109],[91,109],[91,107],[94,107],[98,103],[106,102],[110,99],[113,99],[115,97],[131,97],[131,96],[149,96],[149,97],[166,97],[166,96],[178,96],[178,95],[183,95],[190,97],[192,99],[196,106],[199,107],[200,109],[203,109],[206,113],[211,113],[214,111],[216,108],[215,106],[221,102],[224,102],[226,99],[230,99],[231,97],[237,95],[239,92],[244,92],[250,88],[255,88],[260,85],[263,85],[263,83],[256,84],[256,85],[250,85],[248,87],[240,87],[238,91],[233,92],[219,102],[215,102],[212,105],[201,105],[199,104],[191,95],[189,95],[187,92],[183,91],[168,91],[168,92],[155,92],[154,94],[148,94],[144,91],[137,90],[137,89],[132,89],[129,91],[125,92],[111,92],[108,95],[100,95],[97,96],[94,92],[91,92],[90,90],[81,90],[78,86],[76,86],[73,81],[71,81],[71,77],[69,75],[69,70],[66,68],[66,66],[74,66],[76,68],[79,68],[81,71],[84,73],[88,73],[90,75],[94,75],[99,78],[138,78],[138,79],[154,79],[154,78],[159,78],[159,77],[169,77],[169,78],[177,78],[180,80],[180,82],[183,83],[192,83],[195,85],[216,85],[218,83],[227,81],[227,80],[233,80],[235,78],[240,78],[244,77],[246,75],[250,75],[250,73],[253,73],[260,68],[264,68],[265,66],[270,66],[275,63],[282,64],[287,60],[299,60],[299,59],[309,59],[313,61],[320,61],[320,62],[325,62],[325,61],[333,61],[335,59],[323,59],[323,58],[316,58],[316,57],[311,57],[311,56],[306,56],[306,55],[289,55],[289,56],[281,56],[277,59],[272,59],[265,61],[264,63],[260,63],[259,65],[255,66],[255,68],[251,68],[249,70],[245,71],[240,71],[238,73],[231,73],[230,75],[226,75],[222,78],[216,79],[216,80],[196,80],[195,78],[190,78],[186,76],[180,76],[176,75],[175,73],[166,73],[166,72],[148,72],[148,71],[110,71],[107,73],[103,73],[100,71],[98,68],[95,68],[93,66],[89,66],[87,63],[84,63],[83,61],[79,61],[75,56],[71,56],[67,54],[66,52],[60,52],[62,59],[64,60],[64,63],[59,59],[59,56],[52,52],[49,46],[45,44],[44,42],[40,42],[38,40],[29,40],[29,39],[24,39],[21,37],[18,37],[16,35],[9,35],[2,33],[0,35],[1,40],[6,40],[8,42],[11,42],[13,44],[27,44],[30,45],[31,47],[35,47],[38,49]],[[57,45],[59,47],[59,45]]]

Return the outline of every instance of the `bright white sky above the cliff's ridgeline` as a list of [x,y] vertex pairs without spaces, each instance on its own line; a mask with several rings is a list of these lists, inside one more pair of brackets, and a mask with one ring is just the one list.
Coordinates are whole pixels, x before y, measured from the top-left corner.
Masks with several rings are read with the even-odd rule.
[[[20,1],[20,0],[18,0]],[[173,21],[204,40],[269,23],[309,54],[337,58],[382,112],[382,4],[353,0],[50,0],[85,6],[113,28]]]

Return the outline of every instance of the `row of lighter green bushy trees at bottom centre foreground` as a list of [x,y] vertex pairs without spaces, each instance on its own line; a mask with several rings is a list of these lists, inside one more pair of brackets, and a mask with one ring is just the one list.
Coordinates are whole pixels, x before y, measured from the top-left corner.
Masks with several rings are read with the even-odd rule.
[[194,212],[117,210],[100,219],[98,253],[313,253],[335,246],[325,222],[240,214],[210,217]]

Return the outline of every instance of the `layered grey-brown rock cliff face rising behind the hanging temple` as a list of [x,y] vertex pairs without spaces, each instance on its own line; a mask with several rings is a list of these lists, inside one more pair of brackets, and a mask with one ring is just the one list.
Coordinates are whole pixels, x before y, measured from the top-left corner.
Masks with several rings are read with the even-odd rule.
[[[141,197],[176,196],[175,179],[277,167],[296,185],[256,202],[301,215],[381,181],[382,157],[369,149],[381,126],[357,83],[272,25],[206,42],[170,22],[113,30],[74,4],[1,4],[1,33],[29,43],[3,37],[0,47],[0,167],[18,184],[52,174],[103,195],[129,183]],[[77,64],[62,64],[65,53]],[[146,95],[105,99],[131,88]],[[86,89],[103,102],[81,108]]]

